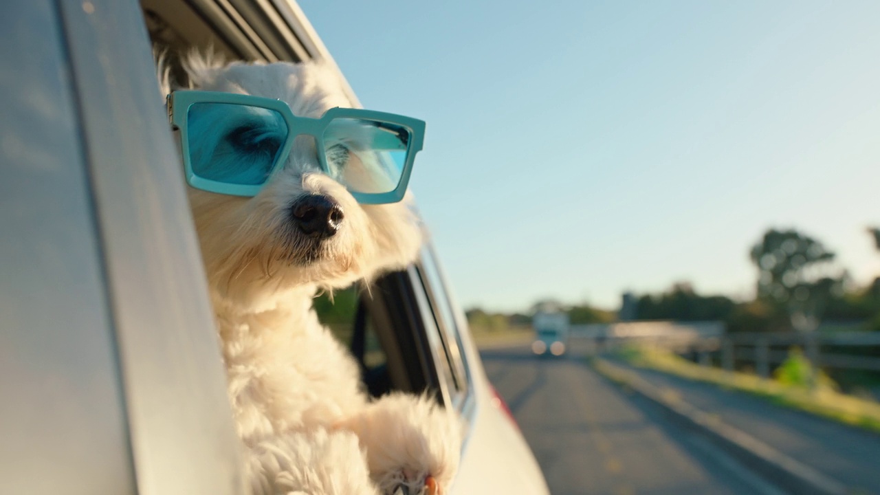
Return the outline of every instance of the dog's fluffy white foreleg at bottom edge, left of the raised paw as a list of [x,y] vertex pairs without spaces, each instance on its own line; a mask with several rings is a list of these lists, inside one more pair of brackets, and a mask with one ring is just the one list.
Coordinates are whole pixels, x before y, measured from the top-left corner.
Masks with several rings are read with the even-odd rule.
[[290,432],[247,447],[246,455],[252,495],[379,493],[351,432]]

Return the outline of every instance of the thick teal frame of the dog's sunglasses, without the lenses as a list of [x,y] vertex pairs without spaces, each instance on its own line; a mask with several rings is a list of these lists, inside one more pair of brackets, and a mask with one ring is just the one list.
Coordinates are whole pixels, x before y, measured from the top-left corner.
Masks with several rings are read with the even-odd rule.
[[[265,182],[259,185],[253,184],[229,184],[221,181],[212,181],[200,177],[193,172],[193,165],[189,154],[189,130],[187,121],[189,115],[189,107],[194,103],[225,103],[231,105],[246,105],[249,107],[266,108],[274,110],[282,115],[284,122],[287,124],[288,135],[284,140],[284,144],[278,150],[275,157],[275,164],[269,171]],[[198,189],[231,196],[256,196],[260,189],[265,186],[272,175],[282,168],[285,161],[290,155],[290,148],[298,136],[312,136],[315,139],[315,145],[318,149],[318,162],[325,174],[330,174],[329,166],[326,160],[326,151],[324,148],[324,131],[327,126],[339,118],[363,119],[374,122],[391,123],[407,129],[410,133],[407,140],[407,159],[400,171],[400,181],[397,188],[384,193],[363,193],[352,191],[348,192],[354,196],[358,203],[362,204],[382,204],[397,203],[403,199],[407,192],[407,184],[409,183],[409,174],[413,169],[415,154],[422,151],[422,143],[425,136],[425,122],[404,115],[387,114],[385,112],[377,112],[375,110],[364,110],[363,108],[341,108],[334,107],[326,111],[318,119],[308,117],[299,117],[293,115],[290,106],[282,100],[273,100],[271,98],[262,98],[260,96],[252,96],[249,94],[236,94],[231,92],[211,92],[197,90],[180,90],[173,91],[167,97],[168,120],[172,124],[172,129],[180,131],[180,147],[183,155],[183,166],[186,171],[187,183]],[[342,184],[345,186],[345,184]],[[346,186],[348,188],[348,186]]]

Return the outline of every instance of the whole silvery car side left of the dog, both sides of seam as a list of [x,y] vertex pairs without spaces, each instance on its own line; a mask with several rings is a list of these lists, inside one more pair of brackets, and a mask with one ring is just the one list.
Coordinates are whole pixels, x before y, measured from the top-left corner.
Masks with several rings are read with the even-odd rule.
[[136,2],[0,16],[0,492],[243,492]]

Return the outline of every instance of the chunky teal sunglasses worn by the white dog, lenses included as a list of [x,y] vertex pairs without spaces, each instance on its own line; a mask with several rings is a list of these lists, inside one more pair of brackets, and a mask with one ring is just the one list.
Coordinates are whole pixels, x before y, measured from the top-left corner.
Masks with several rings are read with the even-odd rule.
[[282,100],[230,92],[175,91],[168,112],[189,185],[233,196],[256,196],[306,135],[322,171],[358,203],[396,203],[425,134],[425,122],[403,115],[336,107],[310,119]]

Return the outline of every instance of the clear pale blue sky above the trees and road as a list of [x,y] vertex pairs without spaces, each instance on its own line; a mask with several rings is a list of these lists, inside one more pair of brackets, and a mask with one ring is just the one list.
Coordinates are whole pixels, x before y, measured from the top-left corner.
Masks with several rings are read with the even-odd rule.
[[428,122],[411,186],[465,307],[748,298],[771,226],[880,275],[880,2],[300,6],[364,107]]

